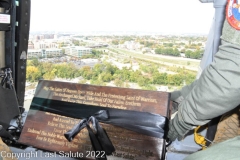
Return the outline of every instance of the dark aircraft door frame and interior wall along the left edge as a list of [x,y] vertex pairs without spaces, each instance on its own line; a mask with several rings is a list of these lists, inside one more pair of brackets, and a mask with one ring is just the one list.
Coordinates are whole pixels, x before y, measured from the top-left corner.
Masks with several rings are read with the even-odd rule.
[[24,102],[30,0],[0,0],[0,16],[0,136],[6,137]]

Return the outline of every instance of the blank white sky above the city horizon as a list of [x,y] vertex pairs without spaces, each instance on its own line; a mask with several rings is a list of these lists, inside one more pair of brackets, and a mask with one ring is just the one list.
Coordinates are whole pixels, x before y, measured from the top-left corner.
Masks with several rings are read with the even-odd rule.
[[31,0],[30,31],[207,34],[213,16],[199,0]]

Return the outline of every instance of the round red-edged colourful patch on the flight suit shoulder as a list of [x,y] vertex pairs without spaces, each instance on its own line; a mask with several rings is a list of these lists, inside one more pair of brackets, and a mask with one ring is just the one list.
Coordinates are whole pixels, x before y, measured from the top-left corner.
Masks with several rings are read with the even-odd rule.
[[240,30],[240,2],[238,0],[228,0],[226,18],[233,28]]

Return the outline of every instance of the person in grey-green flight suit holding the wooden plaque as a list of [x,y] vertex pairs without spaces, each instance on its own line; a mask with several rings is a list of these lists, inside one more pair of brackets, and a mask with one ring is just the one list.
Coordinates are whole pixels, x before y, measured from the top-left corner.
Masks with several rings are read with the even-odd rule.
[[[228,12],[234,8],[231,5],[226,8],[221,46],[213,62],[198,80],[171,94],[171,99],[179,103],[178,112],[169,123],[171,141],[181,140],[189,130],[207,124],[240,104],[240,22],[233,12]],[[239,149],[240,136],[236,136],[185,159],[239,159]]]

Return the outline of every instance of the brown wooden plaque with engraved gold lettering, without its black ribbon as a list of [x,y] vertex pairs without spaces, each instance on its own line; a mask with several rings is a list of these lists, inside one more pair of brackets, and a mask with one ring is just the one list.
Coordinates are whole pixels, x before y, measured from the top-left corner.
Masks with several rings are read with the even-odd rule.
[[[166,92],[40,81],[34,97],[151,112],[169,118],[170,94]],[[60,156],[94,159],[94,155],[101,153],[92,150],[86,129],[81,131],[72,142],[68,142],[64,137],[64,133],[79,121],[80,119],[32,110],[30,107],[19,143],[57,152]],[[101,123],[101,125],[116,149],[112,156],[107,156],[108,159],[164,158],[164,139],[142,135],[110,124]]]

